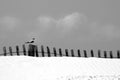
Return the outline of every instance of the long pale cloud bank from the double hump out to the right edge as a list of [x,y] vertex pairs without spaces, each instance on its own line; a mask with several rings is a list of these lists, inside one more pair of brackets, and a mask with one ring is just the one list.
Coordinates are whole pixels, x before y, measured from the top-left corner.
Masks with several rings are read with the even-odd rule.
[[47,37],[51,36],[51,38],[82,38],[83,40],[86,38],[120,38],[120,28],[110,24],[102,25],[94,21],[88,21],[87,16],[78,12],[57,20],[47,16],[40,16],[37,20],[38,31],[45,32],[40,32],[40,34]]

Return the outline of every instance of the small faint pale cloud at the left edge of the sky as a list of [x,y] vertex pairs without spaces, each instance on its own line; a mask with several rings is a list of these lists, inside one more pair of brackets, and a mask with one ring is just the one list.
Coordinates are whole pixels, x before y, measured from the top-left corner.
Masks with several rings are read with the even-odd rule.
[[0,18],[0,26],[4,30],[13,30],[17,24],[19,23],[19,20],[15,17],[10,16],[4,16]]

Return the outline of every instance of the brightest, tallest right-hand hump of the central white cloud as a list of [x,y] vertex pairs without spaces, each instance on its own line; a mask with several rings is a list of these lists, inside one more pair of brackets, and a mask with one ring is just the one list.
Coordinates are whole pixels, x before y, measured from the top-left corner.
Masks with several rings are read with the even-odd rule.
[[86,16],[75,12],[75,13],[65,16],[62,19],[59,19],[57,21],[57,25],[59,27],[64,27],[63,28],[64,32],[69,32],[69,31],[72,31],[72,29],[79,27],[82,24],[85,24],[86,22],[87,22]]

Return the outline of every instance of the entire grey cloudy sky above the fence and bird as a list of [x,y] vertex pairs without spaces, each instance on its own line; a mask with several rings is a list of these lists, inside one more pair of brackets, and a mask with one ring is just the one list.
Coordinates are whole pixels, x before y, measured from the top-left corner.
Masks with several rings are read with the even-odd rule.
[[0,0],[0,47],[36,44],[117,50],[120,0]]

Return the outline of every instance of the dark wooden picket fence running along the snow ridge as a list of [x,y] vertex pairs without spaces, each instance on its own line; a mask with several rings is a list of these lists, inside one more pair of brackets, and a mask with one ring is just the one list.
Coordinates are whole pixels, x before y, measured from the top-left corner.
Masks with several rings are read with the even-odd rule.
[[[7,52],[8,51],[8,52]],[[97,57],[97,58],[120,58],[120,51],[116,51],[117,56],[115,57],[113,55],[113,51],[97,51],[94,53],[93,50],[90,50],[90,52],[87,52],[87,50],[73,50],[73,49],[65,49],[64,51],[59,48],[56,49],[53,47],[50,49],[48,46],[44,47],[43,45],[40,46],[38,49],[37,45],[29,44],[26,48],[25,45],[22,46],[22,50],[20,50],[19,46],[16,46],[15,51],[13,51],[12,47],[9,47],[8,49],[6,47],[3,47],[3,54],[0,54],[1,56],[32,56],[32,57]]]

